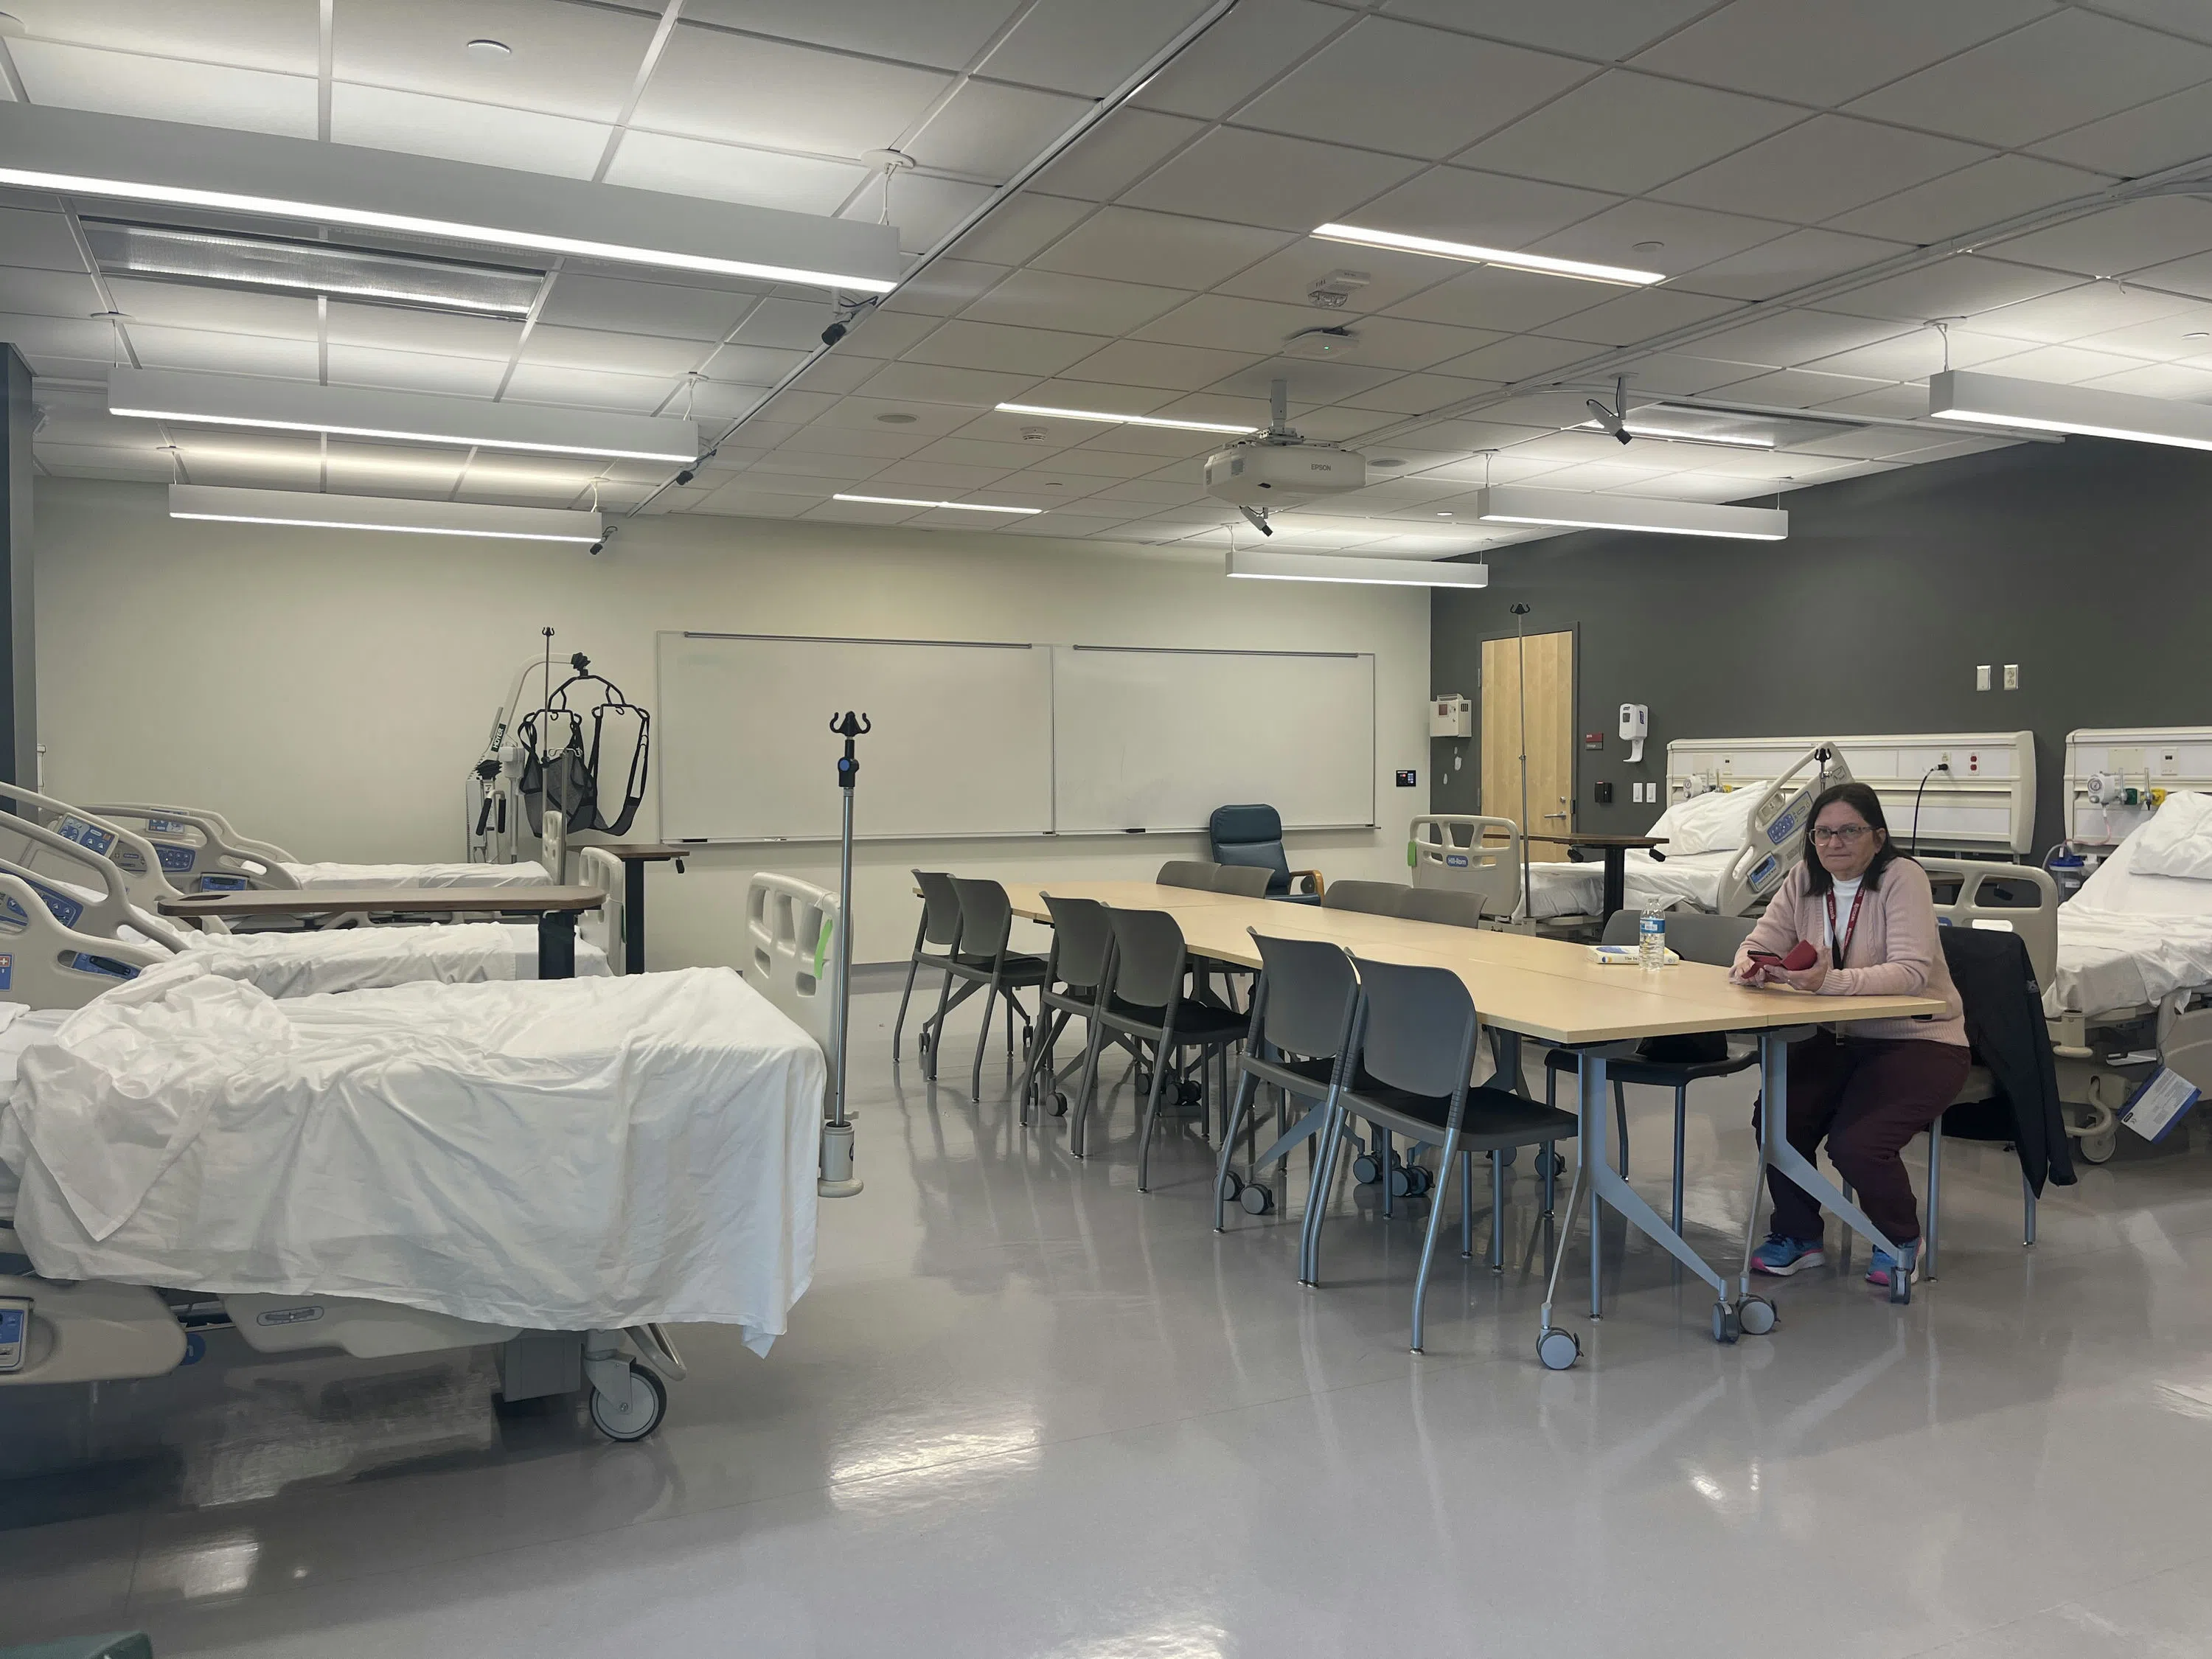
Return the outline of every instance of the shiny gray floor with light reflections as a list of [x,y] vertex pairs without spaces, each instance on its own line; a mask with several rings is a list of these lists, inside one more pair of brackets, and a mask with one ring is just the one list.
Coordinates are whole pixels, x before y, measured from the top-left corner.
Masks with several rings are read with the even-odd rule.
[[[1953,1148],[1913,1307],[1820,1272],[1717,1347],[1628,1241],[1586,1358],[1533,1360],[1535,1183],[1502,1276],[1345,1188],[1327,1287],[1290,1221],[1208,1225],[1208,1152],[1135,1190],[891,1079],[856,1000],[867,1192],[823,1206],[768,1360],[684,1332],[661,1433],[495,1416],[482,1358],[208,1360],[0,1394],[0,1639],[321,1655],[2183,1655],[2212,1646],[2212,1146],[2086,1170],[2017,1245],[1997,1148]],[[1635,1091],[1632,1091],[1635,1093]],[[1692,1237],[1725,1254],[1747,1088],[1692,1106]],[[1635,1113],[1666,1183],[1666,1106]],[[2177,1139],[2181,1139],[2177,1135]],[[1571,1270],[1586,1241],[1577,1239]],[[1619,1225],[1608,1232],[1619,1259]],[[1860,1252],[1860,1265],[1865,1256]],[[1577,1285],[1579,1290],[1579,1285]],[[1566,1298],[1573,1301],[1573,1298]]]

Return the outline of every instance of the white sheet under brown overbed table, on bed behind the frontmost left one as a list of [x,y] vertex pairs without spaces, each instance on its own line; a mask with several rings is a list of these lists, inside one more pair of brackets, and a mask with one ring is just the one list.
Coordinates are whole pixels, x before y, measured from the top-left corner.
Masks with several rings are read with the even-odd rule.
[[[414,980],[480,984],[538,978],[535,922],[436,922],[429,927],[338,927],[325,933],[190,933],[186,956],[226,980],[272,998],[365,991]],[[580,980],[613,967],[591,940],[575,942]]]

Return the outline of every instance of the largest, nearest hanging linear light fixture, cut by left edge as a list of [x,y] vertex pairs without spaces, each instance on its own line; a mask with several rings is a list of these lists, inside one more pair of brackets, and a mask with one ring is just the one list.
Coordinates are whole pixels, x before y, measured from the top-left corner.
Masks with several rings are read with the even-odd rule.
[[[0,186],[889,294],[898,230],[128,115],[0,104]],[[591,226],[593,234],[575,232]]]

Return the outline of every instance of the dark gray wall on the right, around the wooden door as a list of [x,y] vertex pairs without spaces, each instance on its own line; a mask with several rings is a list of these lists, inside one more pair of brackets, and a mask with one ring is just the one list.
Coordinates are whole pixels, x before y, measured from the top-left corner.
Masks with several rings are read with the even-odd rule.
[[[1575,810],[1590,832],[1659,816],[1628,783],[1663,781],[1679,737],[2026,728],[2037,856],[2059,836],[2066,732],[2212,726],[2212,453],[2068,438],[1816,484],[1783,507],[1787,542],[1588,531],[1495,549],[1489,588],[1436,591],[1431,690],[1480,699],[1480,641],[1513,633],[1515,599],[1528,633],[1575,628]],[[1997,686],[2020,664],[2020,690],[1978,692],[1975,664]],[[1652,710],[1641,765],[1621,703]],[[1582,732],[1604,732],[1604,750]],[[1431,741],[1433,812],[1478,810],[1478,748]],[[1613,805],[1595,803],[1599,781]]]

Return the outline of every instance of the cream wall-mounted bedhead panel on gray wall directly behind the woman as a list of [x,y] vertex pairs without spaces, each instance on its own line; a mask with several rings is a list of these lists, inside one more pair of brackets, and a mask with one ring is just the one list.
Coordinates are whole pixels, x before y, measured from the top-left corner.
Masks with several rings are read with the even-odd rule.
[[[1666,796],[1686,801],[1714,787],[1765,783],[1818,741],[1832,743],[1849,776],[1880,796],[1900,843],[1913,838],[1918,794],[1922,849],[2015,858],[2035,849],[2033,732],[1683,737],[1666,745]],[[1949,761],[1951,772],[1927,776],[1938,761]]]

